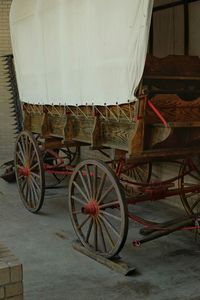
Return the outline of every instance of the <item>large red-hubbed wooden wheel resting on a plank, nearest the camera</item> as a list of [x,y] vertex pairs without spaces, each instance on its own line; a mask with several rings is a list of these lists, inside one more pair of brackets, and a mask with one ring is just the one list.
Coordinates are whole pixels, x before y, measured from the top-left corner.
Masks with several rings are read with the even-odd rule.
[[123,247],[128,211],[118,178],[103,162],[86,160],[69,184],[69,211],[75,232],[89,250],[107,258]]

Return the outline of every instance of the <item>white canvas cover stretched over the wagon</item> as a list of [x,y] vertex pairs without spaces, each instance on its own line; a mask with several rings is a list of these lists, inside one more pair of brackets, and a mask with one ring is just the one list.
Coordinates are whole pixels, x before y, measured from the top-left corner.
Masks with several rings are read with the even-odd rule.
[[33,104],[133,100],[153,0],[13,0],[10,29],[20,98]]

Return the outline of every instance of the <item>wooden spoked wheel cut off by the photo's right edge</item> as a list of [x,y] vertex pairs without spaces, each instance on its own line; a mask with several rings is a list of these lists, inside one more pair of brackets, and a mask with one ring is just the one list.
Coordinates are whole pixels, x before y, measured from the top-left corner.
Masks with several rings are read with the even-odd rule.
[[[187,159],[179,172],[180,198],[188,214],[200,212],[200,157]],[[186,189],[190,189],[187,191]]]

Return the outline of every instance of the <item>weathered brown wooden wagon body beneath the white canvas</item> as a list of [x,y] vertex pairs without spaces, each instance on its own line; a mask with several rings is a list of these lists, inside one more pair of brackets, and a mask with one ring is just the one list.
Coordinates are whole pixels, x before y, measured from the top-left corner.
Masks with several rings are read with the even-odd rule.
[[198,57],[147,57],[139,101],[109,106],[24,103],[24,128],[48,141],[116,149],[128,160],[185,157],[199,153],[199,86]]

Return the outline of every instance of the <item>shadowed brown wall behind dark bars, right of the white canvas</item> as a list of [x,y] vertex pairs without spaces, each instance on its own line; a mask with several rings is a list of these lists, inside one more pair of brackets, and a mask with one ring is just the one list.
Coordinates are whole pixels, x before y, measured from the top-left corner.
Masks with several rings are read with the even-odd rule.
[[[155,6],[173,0],[155,0]],[[189,3],[189,55],[200,55],[200,1]],[[184,6],[179,5],[153,14],[153,55],[184,54]]]

